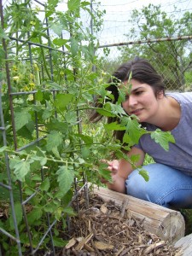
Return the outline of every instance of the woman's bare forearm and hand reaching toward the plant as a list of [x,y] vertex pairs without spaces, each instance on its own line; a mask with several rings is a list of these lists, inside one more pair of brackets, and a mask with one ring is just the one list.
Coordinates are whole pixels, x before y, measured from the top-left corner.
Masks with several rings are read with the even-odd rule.
[[[142,166],[145,157],[143,150],[133,147],[127,155],[131,157],[131,155],[134,154],[140,155],[140,159],[136,163],[136,166]],[[126,160],[108,161],[108,170],[111,171],[113,180],[113,183],[107,183],[108,189],[112,189],[125,194],[125,180],[133,171],[131,164]]]

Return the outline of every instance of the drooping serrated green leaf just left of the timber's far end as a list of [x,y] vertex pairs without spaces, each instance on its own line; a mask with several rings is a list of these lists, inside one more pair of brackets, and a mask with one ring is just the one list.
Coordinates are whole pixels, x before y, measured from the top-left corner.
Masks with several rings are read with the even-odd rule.
[[57,182],[59,183],[59,188],[62,194],[65,195],[67,191],[71,189],[74,178],[74,171],[72,167],[60,166],[56,174],[58,175]]

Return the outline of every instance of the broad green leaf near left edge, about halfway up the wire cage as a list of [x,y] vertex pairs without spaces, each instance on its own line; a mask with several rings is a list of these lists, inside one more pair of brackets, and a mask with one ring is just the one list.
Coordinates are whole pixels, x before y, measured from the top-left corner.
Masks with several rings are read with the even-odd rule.
[[32,120],[31,114],[28,109],[20,109],[20,112],[15,111],[15,129],[20,130],[24,125]]

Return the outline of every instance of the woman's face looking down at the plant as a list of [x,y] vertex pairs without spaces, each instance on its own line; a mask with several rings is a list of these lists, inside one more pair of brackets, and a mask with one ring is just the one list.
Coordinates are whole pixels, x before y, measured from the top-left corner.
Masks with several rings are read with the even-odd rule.
[[[128,87],[127,82],[124,84]],[[126,94],[126,100],[122,103],[122,106],[129,115],[137,115],[140,123],[153,123],[159,108],[159,100],[163,96],[162,92],[156,97],[150,85],[131,79],[131,89]]]

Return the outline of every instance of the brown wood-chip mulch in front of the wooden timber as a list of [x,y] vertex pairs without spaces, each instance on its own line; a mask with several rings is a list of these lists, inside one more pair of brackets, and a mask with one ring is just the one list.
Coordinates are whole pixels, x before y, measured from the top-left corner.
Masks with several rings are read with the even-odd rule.
[[143,230],[143,223],[130,216],[125,209],[105,203],[97,195],[90,195],[89,207],[79,200],[79,216],[71,218],[67,246],[58,256],[180,256],[179,250]]

